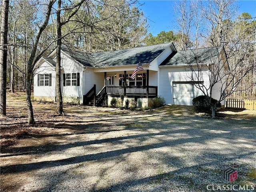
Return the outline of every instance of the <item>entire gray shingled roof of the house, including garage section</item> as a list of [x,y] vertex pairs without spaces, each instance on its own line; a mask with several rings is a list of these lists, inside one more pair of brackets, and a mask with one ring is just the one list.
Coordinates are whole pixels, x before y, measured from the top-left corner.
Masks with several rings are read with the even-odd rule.
[[[129,48],[123,50],[85,53],[78,50],[62,48],[74,60],[88,67],[108,67],[138,64],[139,61],[149,64],[172,43]],[[173,52],[160,66],[184,66],[193,63],[214,63],[220,55],[222,47],[198,48]],[[53,60],[48,60],[54,66]]]

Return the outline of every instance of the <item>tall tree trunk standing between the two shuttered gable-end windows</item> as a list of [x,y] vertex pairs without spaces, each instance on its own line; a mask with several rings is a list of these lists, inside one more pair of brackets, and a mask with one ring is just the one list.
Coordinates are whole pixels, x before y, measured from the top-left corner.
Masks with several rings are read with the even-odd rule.
[[56,98],[57,98],[57,110],[56,113],[58,115],[62,115],[63,113],[63,101],[62,101],[62,93],[60,86],[60,49],[61,49],[61,22],[60,22],[60,9],[61,9],[61,0],[58,0],[58,9],[57,9],[57,50],[56,50]]

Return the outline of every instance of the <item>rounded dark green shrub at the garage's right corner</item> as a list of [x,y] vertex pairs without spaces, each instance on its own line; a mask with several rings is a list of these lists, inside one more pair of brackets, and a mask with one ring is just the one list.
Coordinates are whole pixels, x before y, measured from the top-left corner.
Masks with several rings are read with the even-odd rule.
[[[218,101],[211,98],[211,103],[216,104]],[[197,112],[210,113],[212,111],[211,104],[209,103],[208,96],[200,95],[192,100],[193,106]],[[217,103],[216,108],[221,107],[220,103]]]

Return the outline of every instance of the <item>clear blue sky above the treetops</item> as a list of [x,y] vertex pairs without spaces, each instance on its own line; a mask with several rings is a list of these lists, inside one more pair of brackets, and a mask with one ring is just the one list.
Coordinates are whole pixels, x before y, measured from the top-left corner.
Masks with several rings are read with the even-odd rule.
[[[149,32],[156,36],[161,31],[176,31],[174,17],[174,0],[139,0],[144,4],[140,8],[148,18]],[[238,0],[239,13],[248,12],[252,17],[256,16],[255,0]]]

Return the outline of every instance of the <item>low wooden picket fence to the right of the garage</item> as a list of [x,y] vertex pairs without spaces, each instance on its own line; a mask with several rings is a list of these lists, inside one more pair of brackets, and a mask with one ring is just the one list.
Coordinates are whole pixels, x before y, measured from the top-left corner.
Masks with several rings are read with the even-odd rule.
[[225,108],[228,109],[242,109],[242,110],[256,110],[256,100],[252,99],[226,99]]

